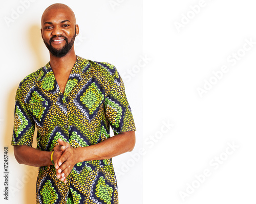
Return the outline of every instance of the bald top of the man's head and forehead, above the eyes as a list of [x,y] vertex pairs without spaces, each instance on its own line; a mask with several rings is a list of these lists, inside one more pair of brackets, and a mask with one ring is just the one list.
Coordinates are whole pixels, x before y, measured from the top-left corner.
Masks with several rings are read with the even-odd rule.
[[63,17],[67,17],[69,21],[73,24],[76,24],[76,17],[71,8],[69,8],[65,4],[53,4],[42,13],[41,17],[41,26],[44,26],[45,22],[48,22],[49,18],[53,18],[54,16],[62,15]]

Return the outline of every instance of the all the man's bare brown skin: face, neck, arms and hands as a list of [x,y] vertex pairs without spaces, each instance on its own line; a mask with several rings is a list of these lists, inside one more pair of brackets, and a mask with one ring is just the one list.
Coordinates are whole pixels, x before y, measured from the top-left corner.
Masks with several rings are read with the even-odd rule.
[[[54,4],[46,9],[41,18],[41,36],[47,43],[51,37],[54,48],[61,48],[66,41],[59,35],[68,38],[79,33],[79,27],[73,11],[66,5]],[[55,79],[64,93],[72,67],[76,61],[74,45],[69,53],[62,58],[50,53],[50,64]],[[58,145],[54,148],[53,161],[56,168],[56,176],[62,182],[67,183],[67,176],[75,164],[82,161],[109,159],[127,151],[132,151],[135,146],[135,132],[123,132],[100,143],[72,148],[68,142],[58,139]],[[14,155],[18,163],[30,166],[53,165],[51,162],[52,151],[41,151],[27,145],[14,146]]]

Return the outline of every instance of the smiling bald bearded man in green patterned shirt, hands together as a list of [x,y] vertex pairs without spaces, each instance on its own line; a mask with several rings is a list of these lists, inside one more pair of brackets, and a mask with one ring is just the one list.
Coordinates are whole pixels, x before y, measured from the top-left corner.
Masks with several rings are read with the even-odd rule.
[[18,163],[39,167],[36,203],[118,203],[111,158],[135,145],[120,75],[109,63],[76,56],[78,33],[68,6],[48,7],[41,36],[50,62],[28,75],[16,92],[12,145]]

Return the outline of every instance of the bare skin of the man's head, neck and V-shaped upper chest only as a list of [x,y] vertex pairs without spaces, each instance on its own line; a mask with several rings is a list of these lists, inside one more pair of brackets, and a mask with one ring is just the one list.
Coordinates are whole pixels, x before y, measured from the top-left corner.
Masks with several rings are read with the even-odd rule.
[[[53,36],[65,36],[70,42],[72,37],[75,35],[75,30],[77,35],[79,33],[79,27],[76,24],[73,11],[65,6],[57,5],[46,10],[42,14],[41,18],[42,39],[44,39],[48,44],[50,43],[50,38]],[[66,41],[63,40],[63,37],[55,37],[53,40],[56,41],[52,42],[52,46],[57,49],[63,47],[66,43]],[[65,91],[69,74],[75,64],[75,61],[76,55],[74,45],[70,52],[62,58],[55,57],[50,53],[50,64],[62,93]]]

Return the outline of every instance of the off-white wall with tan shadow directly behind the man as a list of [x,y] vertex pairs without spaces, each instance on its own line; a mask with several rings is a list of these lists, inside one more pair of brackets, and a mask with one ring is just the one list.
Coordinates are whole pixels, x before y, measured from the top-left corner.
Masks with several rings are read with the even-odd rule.
[[[37,168],[18,164],[11,146],[14,98],[19,82],[49,61],[49,52],[40,36],[40,18],[53,3],[67,4],[76,14],[80,28],[75,41],[76,54],[114,64],[123,78],[138,130],[137,143],[133,152],[118,156],[113,162],[119,172],[120,203],[133,203],[135,199],[142,203],[142,158],[134,156],[142,146],[142,70],[136,69],[136,74],[133,73],[143,56],[142,1],[135,0],[123,3],[103,0],[1,2],[0,155],[4,158],[4,146],[7,146],[9,200],[4,200],[4,196],[0,199],[6,203],[35,203]],[[35,140],[33,146],[36,146]],[[3,160],[1,169],[4,174]],[[0,178],[3,192],[4,177]]]

